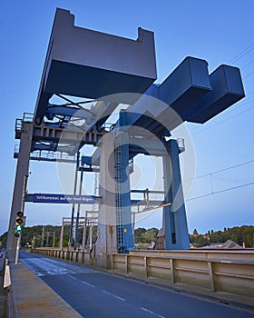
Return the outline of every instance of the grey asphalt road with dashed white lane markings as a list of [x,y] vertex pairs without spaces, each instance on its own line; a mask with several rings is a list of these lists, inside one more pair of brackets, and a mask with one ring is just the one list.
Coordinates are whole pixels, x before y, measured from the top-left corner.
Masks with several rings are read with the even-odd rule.
[[226,304],[98,272],[83,265],[24,252],[20,253],[20,259],[85,318],[254,316]]

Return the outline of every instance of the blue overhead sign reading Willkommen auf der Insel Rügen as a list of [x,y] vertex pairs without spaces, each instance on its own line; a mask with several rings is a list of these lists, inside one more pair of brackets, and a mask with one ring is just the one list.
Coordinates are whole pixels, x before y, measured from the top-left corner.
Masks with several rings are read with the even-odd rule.
[[74,194],[34,194],[33,202],[38,204],[95,204],[95,196]]

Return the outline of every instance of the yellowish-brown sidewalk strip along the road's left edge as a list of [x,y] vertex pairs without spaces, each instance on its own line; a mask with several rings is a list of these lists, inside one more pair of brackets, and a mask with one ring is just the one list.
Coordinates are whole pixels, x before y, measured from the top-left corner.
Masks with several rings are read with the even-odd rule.
[[[82,316],[23,263],[11,264],[13,317],[81,318]],[[10,302],[9,302],[10,303]]]

